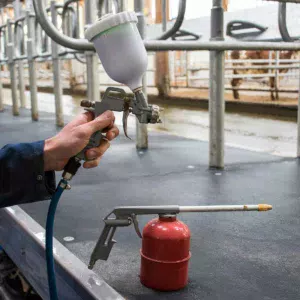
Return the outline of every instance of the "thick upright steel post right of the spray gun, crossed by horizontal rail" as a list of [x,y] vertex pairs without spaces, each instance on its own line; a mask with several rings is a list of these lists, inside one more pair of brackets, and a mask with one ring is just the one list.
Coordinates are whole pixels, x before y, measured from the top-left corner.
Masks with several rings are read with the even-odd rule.
[[[211,10],[211,40],[224,40],[222,0],[213,0]],[[224,168],[224,51],[210,52],[209,89],[209,167]]]

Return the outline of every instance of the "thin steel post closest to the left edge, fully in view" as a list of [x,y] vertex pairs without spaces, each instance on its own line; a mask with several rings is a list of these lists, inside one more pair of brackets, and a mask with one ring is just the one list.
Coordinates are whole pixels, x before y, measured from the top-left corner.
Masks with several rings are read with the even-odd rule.
[[6,53],[8,57],[8,67],[10,72],[10,85],[11,85],[11,97],[12,97],[12,112],[14,116],[18,116],[19,113],[19,104],[17,97],[17,78],[16,78],[16,64],[14,62],[15,58],[15,49],[13,44],[13,31],[11,20],[7,20],[7,33],[8,33],[8,43],[6,46]]

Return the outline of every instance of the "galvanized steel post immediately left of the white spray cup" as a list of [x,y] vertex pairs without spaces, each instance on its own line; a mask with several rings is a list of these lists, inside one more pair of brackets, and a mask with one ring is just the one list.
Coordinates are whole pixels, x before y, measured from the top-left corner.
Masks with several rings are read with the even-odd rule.
[[[97,17],[97,10],[94,0],[85,1],[85,23],[92,24]],[[86,71],[87,71],[87,98],[90,101],[99,101],[99,58],[95,52],[86,51]]]

